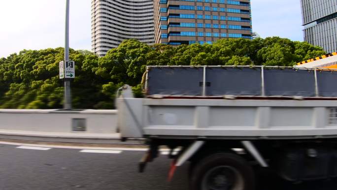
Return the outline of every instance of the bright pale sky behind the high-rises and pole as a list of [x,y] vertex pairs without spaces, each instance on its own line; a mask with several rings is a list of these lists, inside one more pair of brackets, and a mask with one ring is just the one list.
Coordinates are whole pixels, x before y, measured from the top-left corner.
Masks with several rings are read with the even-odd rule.
[[[1,0],[0,57],[64,46],[66,0]],[[70,47],[91,50],[91,0],[70,0]],[[300,0],[251,0],[253,31],[303,41]]]

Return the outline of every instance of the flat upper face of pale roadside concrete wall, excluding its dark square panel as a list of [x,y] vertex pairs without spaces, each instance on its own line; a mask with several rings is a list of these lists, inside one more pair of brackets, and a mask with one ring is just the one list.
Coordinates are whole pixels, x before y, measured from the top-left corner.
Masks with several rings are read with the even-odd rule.
[[[86,131],[73,131],[72,120],[85,119]],[[116,133],[117,110],[0,110],[0,130],[46,133]]]

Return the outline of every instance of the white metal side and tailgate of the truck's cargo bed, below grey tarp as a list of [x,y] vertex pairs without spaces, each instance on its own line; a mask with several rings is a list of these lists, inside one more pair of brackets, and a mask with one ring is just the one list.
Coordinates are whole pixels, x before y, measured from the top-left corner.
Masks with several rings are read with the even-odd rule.
[[119,99],[122,137],[337,137],[334,100]]

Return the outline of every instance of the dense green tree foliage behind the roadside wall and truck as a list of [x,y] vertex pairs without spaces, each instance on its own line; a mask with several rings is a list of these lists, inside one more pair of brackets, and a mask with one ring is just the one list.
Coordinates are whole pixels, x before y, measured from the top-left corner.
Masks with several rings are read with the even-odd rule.
[[[147,65],[269,65],[292,66],[324,54],[322,48],[286,38],[220,39],[213,45],[149,46],[126,40],[106,56],[70,50],[76,78],[72,104],[80,109],[113,108],[115,91],[123,84],[139,85]],[[63,81],[58,63],[64,49],[23,50],[0,58],[0,108],[56,109],[63,105]]]

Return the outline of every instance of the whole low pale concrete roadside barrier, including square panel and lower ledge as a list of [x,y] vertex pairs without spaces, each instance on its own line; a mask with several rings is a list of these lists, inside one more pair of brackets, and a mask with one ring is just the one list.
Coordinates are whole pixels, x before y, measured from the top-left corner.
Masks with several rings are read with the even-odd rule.
[[119,139],[117,110],[0,110],[0,138]]

